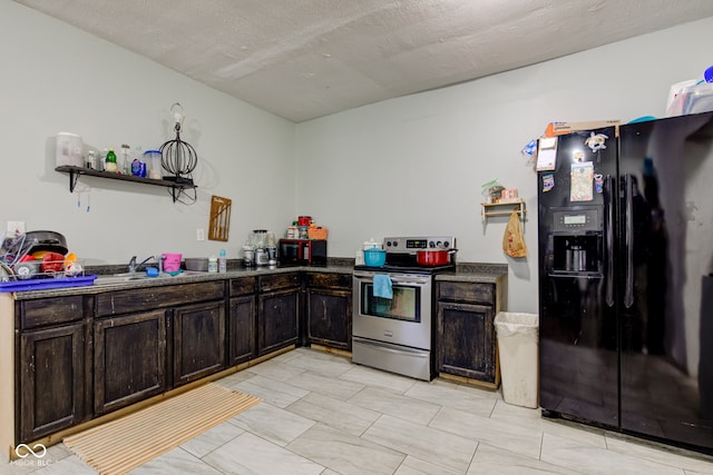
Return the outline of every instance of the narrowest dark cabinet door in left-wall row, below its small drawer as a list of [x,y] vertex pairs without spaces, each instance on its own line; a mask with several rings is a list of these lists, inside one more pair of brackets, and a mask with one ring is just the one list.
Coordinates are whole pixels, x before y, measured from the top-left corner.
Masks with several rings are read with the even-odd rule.
[[231,298],[227,335],[228,366],[255,357],[255,296]]

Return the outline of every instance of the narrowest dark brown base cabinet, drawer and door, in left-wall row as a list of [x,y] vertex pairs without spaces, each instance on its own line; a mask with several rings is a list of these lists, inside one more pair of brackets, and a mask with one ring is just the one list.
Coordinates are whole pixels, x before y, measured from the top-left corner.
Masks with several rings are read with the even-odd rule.
[[229,283],[227,317],[228,366],[240,365],[255,357],[255,278],[243,277]]

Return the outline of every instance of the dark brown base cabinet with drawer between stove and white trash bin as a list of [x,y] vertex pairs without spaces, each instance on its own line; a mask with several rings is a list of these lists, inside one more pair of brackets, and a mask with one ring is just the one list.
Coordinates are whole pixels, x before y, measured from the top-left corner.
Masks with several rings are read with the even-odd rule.
[[439,281],[437,285],[438,372],[490,388],[500,384],[495,284]]

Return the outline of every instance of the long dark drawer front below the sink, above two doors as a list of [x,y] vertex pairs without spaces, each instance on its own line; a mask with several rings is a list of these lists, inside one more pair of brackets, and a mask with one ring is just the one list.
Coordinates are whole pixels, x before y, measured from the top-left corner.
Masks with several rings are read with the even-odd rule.
[[118,315],[141,311],[147,308],[166,308],[176,305],[217,300],[225,297],[224,280],[138,288],[99,294],[97,315]]

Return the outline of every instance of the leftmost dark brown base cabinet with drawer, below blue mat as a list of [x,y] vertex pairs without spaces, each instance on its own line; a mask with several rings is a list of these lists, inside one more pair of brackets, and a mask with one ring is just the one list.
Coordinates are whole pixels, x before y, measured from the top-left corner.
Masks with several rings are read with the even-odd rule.
[[19,442],[87,417],[85,309],[90,310],[90,305],[79,296],[17,304]]

